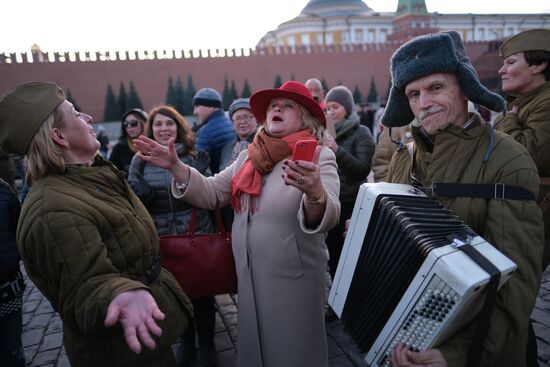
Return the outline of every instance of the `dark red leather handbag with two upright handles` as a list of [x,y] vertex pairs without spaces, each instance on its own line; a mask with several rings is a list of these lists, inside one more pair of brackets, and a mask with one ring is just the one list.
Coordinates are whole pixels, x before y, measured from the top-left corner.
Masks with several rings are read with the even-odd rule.
[[195,233],[195,208],[186,234],[160,236],[160,263],[190,298],[237,293],[231,234],[216,208],[218,233]]

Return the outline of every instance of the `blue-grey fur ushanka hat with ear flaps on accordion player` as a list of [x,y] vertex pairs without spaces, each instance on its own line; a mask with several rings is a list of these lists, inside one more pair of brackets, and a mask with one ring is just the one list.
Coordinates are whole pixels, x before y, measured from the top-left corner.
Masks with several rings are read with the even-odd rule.
[[399,47],[390,61],[392,86],[382,124],[399,127],[409,124],[414,115],[405,96],[413,80],[435,73],[455,73],[464,95],[473,103],[500,112],[505,102],[481,84],[455,31],[432,33],[413,38]]

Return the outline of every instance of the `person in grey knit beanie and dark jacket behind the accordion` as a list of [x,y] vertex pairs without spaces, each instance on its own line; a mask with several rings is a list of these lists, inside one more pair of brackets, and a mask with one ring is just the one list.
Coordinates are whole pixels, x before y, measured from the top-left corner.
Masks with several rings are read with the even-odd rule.
[[360,124],[354,112],[353,95],[348,88],[332,88],[325,97],[325,106],[336,130],[336,139],[327,134],[325,144],[336,155],[342,205],[340,222],[327,237],[329,270],[334,278],[344,245],[345,222],[351,218],[359,186],[367,181],[375,143],[370,130]]

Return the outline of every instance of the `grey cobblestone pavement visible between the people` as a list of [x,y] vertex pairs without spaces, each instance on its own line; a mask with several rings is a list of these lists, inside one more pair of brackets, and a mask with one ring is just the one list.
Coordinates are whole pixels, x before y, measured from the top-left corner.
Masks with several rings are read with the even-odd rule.
[[[219,367],[236,366],[237,297],[216,297],[215,343]],[[537,335],[540,367],[550,366],[550,268],[544,273],[532,318]],[[343,330],[340,321],[327,324],[330,367],[365,367],[366,363]],[[27,366],[68,367],[63,349],[62,326],[50,303],[27,279],[23,297],[23,345]],[[177,345],[174,345],[177,348]],[[312,366],[315,367],[315,366]]]

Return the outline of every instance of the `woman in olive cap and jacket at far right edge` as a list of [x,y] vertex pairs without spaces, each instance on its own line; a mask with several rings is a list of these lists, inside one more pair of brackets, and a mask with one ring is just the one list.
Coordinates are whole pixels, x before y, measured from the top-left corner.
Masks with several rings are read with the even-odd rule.
[[500,46],[504,64],[498,71],[502,91],[510,96],[508,112],[496,129],[527,148],[537,165],[543,211],[543,270],[550,263],[550,30],[531,29],[508,38]]

